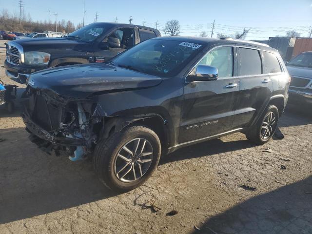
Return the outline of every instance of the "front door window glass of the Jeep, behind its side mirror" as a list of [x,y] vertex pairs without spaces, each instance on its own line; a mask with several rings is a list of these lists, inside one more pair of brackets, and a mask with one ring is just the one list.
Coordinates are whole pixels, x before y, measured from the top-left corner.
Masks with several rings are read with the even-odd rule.
[[218,47],[210,51],[198,63],[218,69],[218,77],[233,76],[233,47]]

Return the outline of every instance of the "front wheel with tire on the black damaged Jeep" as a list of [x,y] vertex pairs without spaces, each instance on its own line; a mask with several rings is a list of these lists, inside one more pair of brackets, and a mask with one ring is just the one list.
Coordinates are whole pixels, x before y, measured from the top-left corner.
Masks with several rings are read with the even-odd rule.
[[[131,156],[125,148],[132,155],[135,151],[137,154]],[[127,192],[142,185],[153,174],[160,152],[160,140],[153,130],[145,126],[131,126],[97,144],[93,166],[106,187],[116,192]]]

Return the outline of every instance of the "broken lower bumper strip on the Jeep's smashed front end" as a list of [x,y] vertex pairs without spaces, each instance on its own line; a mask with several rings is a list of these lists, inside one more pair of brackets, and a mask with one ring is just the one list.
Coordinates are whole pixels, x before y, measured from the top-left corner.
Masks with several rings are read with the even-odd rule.
[[39,137],[40,139],[50,142],[53,145],[66,146],[66,147],[86,145],[86,141],[84,139],[57,137],[57,136],[52,135],[48,131],[41,128],[38,124],[34,123],[30,119],[27,113],[27,110],[25,110],[24,113],[22,113],[21,117],[23,118],[23,122],[26,125],[26,130],[29,133]]

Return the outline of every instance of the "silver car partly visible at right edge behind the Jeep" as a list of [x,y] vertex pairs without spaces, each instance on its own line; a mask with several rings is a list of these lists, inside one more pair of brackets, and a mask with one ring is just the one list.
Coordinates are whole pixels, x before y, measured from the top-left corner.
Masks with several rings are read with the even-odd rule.
[[289,102],[306,101],[312,103],[312,52],[303,52],[287,63],[292,77]]

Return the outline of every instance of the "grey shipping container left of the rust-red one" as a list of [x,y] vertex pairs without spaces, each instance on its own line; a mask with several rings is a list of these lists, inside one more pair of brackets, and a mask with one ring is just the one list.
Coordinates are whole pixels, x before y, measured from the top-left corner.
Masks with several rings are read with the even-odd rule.
[[269,46],[278,50],[284,60],[292,58],[292,50],[295,44],[294,38],[269,38]]

